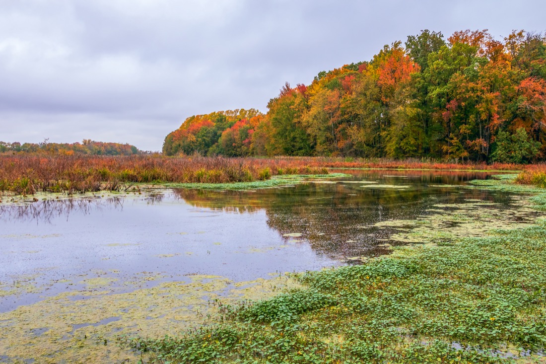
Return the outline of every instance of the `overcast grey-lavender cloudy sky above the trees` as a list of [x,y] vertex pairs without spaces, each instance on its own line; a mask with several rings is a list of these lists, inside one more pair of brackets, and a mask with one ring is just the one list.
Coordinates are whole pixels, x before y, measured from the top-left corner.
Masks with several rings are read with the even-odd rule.
[[544,32],[541,1],[0,0],[0,141],[161,150],[188,116],[266,112],[284,83],[421,30]]

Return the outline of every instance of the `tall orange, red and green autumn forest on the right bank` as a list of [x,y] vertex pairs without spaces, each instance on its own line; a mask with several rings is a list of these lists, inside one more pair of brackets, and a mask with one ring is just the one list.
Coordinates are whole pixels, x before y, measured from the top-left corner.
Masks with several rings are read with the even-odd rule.
[[186,119],[166,155],[432,157],[521,163],[546,155],[546,38],[422,31],[369,62],[288,83],[257,110]]

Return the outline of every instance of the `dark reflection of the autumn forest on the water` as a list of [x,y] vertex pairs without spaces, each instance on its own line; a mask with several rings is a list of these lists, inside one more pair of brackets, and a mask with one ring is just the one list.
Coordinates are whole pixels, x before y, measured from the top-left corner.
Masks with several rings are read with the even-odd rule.
[[[347,172],[347,171],[343,171]],[[386,243],[396,228],[373,226],[385,220],[414,220],[429,215],[435,204],[461,203],[465,199],[500,202],[506,194],[458,188],[468,180],[485,179],[486,173],[430,171],[352,171],[353,180],[377,181],[405,188],[363,188],[358,183],[307,183],[255,192],[175,190],[176,195],[196,207],[233,213],[265,210],[268,225],[298,243],[308,240],[313,250],[334,259],[378,256],[388,253]],[[444,186],[444,187],[442,187]]]

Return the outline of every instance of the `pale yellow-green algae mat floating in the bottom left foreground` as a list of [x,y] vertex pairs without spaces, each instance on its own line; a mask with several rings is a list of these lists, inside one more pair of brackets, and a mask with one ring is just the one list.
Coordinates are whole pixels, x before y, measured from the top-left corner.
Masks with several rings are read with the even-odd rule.
[[0,361],[136,363],[141,356],[128,350],[129,338],[188,333],[225,320],[228,305],[300,286],[279,274],[236,285],[222,277],[191,275],[187,283],[126,293],[64,292],[0,313],[0,353],[5,355]]

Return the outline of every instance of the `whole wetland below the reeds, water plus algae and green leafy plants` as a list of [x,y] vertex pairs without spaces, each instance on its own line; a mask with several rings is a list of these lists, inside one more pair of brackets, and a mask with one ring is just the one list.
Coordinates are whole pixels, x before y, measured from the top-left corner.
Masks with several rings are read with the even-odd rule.
[[544,362],[537,191],[333,172],[3,198],[0,361]]

